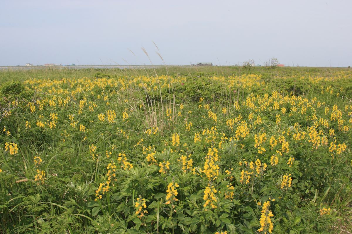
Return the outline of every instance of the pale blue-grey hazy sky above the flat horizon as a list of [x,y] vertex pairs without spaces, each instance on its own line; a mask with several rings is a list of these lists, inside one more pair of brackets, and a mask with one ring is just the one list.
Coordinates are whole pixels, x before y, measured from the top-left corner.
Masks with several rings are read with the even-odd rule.
[[[351,0],[0,0],[0,65],[352,66]],[[134,53],[134,55],[129,51]]]

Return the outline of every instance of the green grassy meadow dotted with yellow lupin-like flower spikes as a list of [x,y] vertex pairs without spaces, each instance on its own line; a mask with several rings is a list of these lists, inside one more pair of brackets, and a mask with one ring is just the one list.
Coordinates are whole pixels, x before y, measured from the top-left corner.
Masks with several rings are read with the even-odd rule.
[[0,71],[0,233],[351,233],[352,70]]

